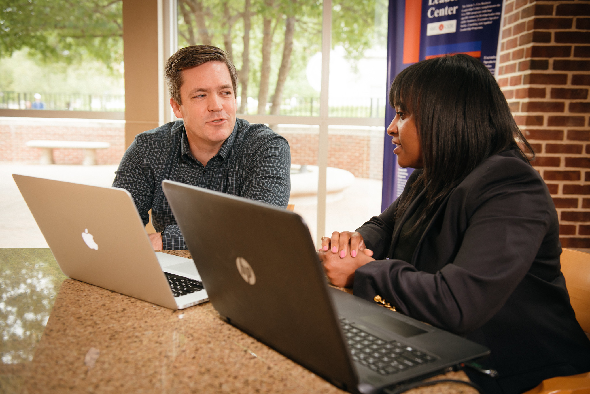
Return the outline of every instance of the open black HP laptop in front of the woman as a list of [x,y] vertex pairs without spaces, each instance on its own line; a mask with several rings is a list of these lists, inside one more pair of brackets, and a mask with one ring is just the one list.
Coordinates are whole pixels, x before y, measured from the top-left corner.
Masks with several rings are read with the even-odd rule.
[[374,393],[489,353],[329,288],[296,213],[173,181],[162,186],[222,318],[334,385]]

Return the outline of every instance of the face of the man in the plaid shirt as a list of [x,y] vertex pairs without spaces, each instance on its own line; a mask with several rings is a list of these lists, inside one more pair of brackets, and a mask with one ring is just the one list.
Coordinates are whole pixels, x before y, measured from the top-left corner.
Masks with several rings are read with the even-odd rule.
[[189,142],[217,145],[234,130],[236,102],[230,71],[225,63],[209,61],[182,70],[182,105],[170,104],[185,123]]

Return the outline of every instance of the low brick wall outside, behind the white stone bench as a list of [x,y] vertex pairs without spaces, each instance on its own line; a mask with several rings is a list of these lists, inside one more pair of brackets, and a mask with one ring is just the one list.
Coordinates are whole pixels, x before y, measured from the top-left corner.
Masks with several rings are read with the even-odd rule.
[[[34,139],[109,142],[96,150],[97,164],[119,164],[124,153],[125,123],[102,119],[1,118],[0,161],[37,164],[41,149],[25,143]],[[53,149],[55,164],[82,164],[82,149]]]

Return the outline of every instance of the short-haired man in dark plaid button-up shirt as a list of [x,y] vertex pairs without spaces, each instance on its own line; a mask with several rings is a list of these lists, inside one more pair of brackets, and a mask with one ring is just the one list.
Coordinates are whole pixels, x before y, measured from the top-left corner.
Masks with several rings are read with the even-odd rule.
[[192,45],[166,63],[170,104],[182,121],[138,134],[116,171],[129,190],[154,249],[186,249],[162,191],[165,179],[286,207],[291,189],[287,140],[265,125],[237,119],[237,73],[227,54]]

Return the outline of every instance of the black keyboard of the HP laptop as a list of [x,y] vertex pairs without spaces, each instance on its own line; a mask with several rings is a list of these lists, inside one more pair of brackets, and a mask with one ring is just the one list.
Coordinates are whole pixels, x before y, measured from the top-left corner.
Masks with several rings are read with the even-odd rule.
[[392,375],[437,359],[400,341],[373,336],[354,327],[346,318],[340,319],[340,323],[352,359],[381,375]]

